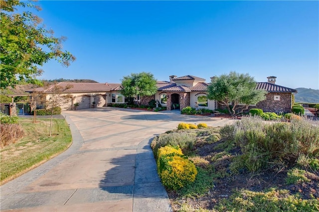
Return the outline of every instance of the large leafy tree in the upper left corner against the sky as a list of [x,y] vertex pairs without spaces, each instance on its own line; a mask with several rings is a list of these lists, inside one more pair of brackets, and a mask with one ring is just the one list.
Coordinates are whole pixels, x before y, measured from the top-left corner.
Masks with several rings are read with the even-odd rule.
[[[0,1],[0,87],[14,87],[19,80],[41,84],[39,66],[51,59],[68,67],[75,57],[62,51],[65,37],[56,38],[42,20],[29,11],[14,13],[16,7],[39,7],[20,0]],[[44,50],[45,49],[45,50]]]

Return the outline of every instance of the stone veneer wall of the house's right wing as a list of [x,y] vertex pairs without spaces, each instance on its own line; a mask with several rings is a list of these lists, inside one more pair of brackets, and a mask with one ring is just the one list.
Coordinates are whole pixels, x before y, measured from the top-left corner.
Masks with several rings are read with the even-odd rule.
[[[274,100],[274,96],[280,96],[280,100]],[[290,113],[292,108],[291,93],[268,93],[266,99],[257,103],[255,108],[263,109],[264,112]]]

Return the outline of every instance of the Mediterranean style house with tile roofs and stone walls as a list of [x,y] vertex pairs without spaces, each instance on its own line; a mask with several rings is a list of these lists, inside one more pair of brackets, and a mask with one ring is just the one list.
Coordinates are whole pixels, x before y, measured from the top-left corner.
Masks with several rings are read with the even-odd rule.
[[[266,100],[252,105],[250,108],[260,108],[264,112],[291,112],[292,94],[297,90],[277,85],[276,76],[269,76],[268,82],[257,82],[256,89],[264,89],[268,92]],[[207,86],[205,79],[186,75],[177,77],[169,76],[169,81],[158,81],[158,91],[155,95],[144,98],[142,104],[147,105],[150,100],[159,101],[161,106],[167,110],[182,109],[190,106],[195,108],[218,109],[219,104],[214,100],[207,99]],[[106,107],[110,104],[124,104],[128,98],[121,94],[119,83],[81,83],[60,82],[57,84],[62,88],[62,95],[71,96],[68,103],[61,106],[62,110],[87,109],[92,106]],[[27,91],[27,92],[34,92]],[[53,86],[47,89],[37,90],[49,99],[53,94]],[[77,103],[77,104],[76,104]]]

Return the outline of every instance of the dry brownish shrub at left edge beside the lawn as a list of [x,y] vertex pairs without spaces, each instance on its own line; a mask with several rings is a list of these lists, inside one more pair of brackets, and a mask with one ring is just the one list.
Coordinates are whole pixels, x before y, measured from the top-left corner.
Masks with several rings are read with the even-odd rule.
[[0,125],[0,147],[3,148],[11,143],[15,143],[24,135],[23,129],[19,124]]

